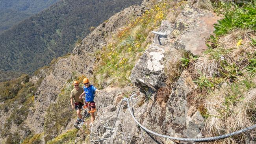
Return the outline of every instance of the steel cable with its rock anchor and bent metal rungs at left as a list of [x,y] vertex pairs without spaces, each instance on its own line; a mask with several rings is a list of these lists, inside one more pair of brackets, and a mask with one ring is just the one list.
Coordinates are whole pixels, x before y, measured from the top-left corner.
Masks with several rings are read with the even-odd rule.
[[[134,96],[135,96],[135,95],[134,95]],[[133,98],[134,96],[131,96],[131,97],[130,97],[130,101],[131,101],[132,103],[134,103],[134,101],[135,101],[135,98]],[[170,137],[170,136],[168,136],[168,135],[162,135],[162,134],[159,134],[159,133],[155,133],[154,131],[151,131],[151,130],[147,129],[146,127],[144,127],[143,125],[141,125],[141,123],[139,123],[139,122],[136,120],[136,118],[135,118],[135,116],[134,116],[134,114],[133,114],[133,112],[132,112],[132,110],[131,110],[131,107],[130,107],[129,99],[128,99],[128,98],[124,98],[124,99],[122,100],[122,102],[121,102],[121,104],[120,104],[120,106],[119,106],[119,109],[118,109],[117,117],[118,117],[118,115],[119,115],[119,111],[120,111],[121,105],[122,105],[122,103],[123,103],[124,101],[127,102],[128,109],[129,109],[129,111],[130,111],[130,114],[132,115],[132,118],[134,119],[134,121],[135,121],[142,129],[144,129],[144,130],[147,131],[148,133],[152,133],[152,134],[157,135],[157,136],[159,136],[159,137],[169,138],[169,139],[171,139],[171,140],[180,140],[180,141],[185,141],[185,142],[213,141],[213,140],[218,140],[218,139],[222,139],[222,138],[227,138],[227,137],[231,137],[231,136],[234,136],[234,135],[238,135],[238,134],[241,134],[241,133],[244,133],[244,132],[246,132],[246,131],[249,131],[249,130],[252,130],[252,129],[256,128],[256,124],[255,124],[254,126],[250,126],[250,127],[245,128],[245,129],[241,129],[241,130],[239,130],[239,131],[235,131],[235,132],[233,132],[233,133],[228,133],[228,134],[225,134],[225,135],[220,135],[220,136],[217,136],[217,137],[208,137],[208,138],[177,138],[177,137]],[[115,122],[117,121],[117,117],[115,118]],[[102,138],[102,139],[99,139],[99,140],[92,140],[92,139],[91,139],[91,137],[92,137],[92,130],[93,130],[93,125],[92,125],[92,127],[91,127],[91,134],[90,134],[90,140],[91,140],[91,142],[97,142],[97,141],[100,141],[100,140],[107,140],[107,139],[111,138],[111,136],[112,136],[112,131],[113,131],[114,127],[115,127],[115,122],[114,122],[114,125],[113,125],[112,128],[111,128],[111,127],[106,127],[106,125],[108,125],[108,123],[107,123],[107,124],[104,124],[104,127],[105,127],[105,128],[111,129],[111,131],[110,131],[110,136],[109,136],[108,138]],[[109,126],[109,125],[108,125],[108,126]]]

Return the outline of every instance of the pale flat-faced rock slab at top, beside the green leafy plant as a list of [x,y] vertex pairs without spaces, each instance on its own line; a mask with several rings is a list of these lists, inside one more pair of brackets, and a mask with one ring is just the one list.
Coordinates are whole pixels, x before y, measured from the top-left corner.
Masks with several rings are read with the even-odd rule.
[[186,6],[174,24],[173,35],[177,37],[173,43],[174,48],[200,55],[207,49],[205,41],[213,34],[213,24],[219,18],[210,11]]

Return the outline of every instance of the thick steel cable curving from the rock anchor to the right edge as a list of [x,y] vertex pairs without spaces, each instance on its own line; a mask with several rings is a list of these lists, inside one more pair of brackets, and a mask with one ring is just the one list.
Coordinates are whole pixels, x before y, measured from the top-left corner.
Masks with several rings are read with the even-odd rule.
[[249,131],[251,129],[254,129],[256,128],[256,124],[254,126],[250,126],[250,127],[247,127],[245,129],[241,129],[239,131],[235,131],[233,133],[228,133],[226,135],[220,135],[220,136],[217,136],[217,137],[209,137],[209,138],[176,138],[176,137],[170,137],[170,136],[167,136],[167,135],[162,135],[162,134],[159,134],[159,133],[155,133],[154,131],[151,131],[149,129],[147,129],[146,127],[142,126],[135,118],[134,114],[132,113],[131,109],[130,109],[130,104],[129,104],[129,100],[128,98],[124,98],[123,99],[124,101],[127,101],[127,104],[128,104],[128,109],[130,111],[130,114],[132,115],[132,118],[134,119],[134,121],[143,129],[145,129],[145,131],[149,132],[149,133],[152,133],[154,135],[157,135],[157,136],[160,136],[160,137],[165,137],[165,138],[170,138],[170,139],[173,139],[173,140],[180,140],[180,141],[186,141],[186,142],[200,142],[200,141],[213,141],[213,140],[217,140],[217,139],[221,139],[221,138],[227,138],[227,137],[231,137],[231,136],[234,136],[234,135],[238,135],[240,133],[243,133],[245,131]]

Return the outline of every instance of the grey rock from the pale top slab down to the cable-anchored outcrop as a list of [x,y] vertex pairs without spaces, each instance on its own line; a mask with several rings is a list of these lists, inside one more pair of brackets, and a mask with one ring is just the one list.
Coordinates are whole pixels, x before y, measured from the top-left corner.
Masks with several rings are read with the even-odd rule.
[[[213,23],[216,23],[217,19],[218,17],[209,11],[186,6],[174,24],[163,21],[158,31],[169,33],[169,35],[160,38],[158,35],[155,36],[155,44],[148,47],[130,76],[132,83],[139,87],[141,92],[136,87],[119,89],[119,94],[102,90],[99,93],[102,97],[96,99],[99,107],[92,139],[109,137],[110,130],[104,128],[103,125],[108,123],[111,127],[113,126],[117,108],[121,105],[124,90],[127,89],[137,93],[136,101],[132,103],[135,118],[148,129],[173,137],[201,137],[204,119],[199,111],[188,105],[189,96],[197,85],[192,81],[190,74],[183,71],[171,93],[164,94],[164,90],[161,89],[165,86],[164,67],[166,63],[164,60],[166,57],[171,57],[173,63],[178,63],[177,60],[182,57],[182,54],[177,49],[189,50],[193,54],[200,55],[204,49],[202,45],[205,45],[204,41],[212,34]],[[80,138],[77,140],[79,141]],[[112,137],[102,142],[114,144],[174,143],[167,138],[156,137],[138,127],[128,111],[126,102],[121,107]]]

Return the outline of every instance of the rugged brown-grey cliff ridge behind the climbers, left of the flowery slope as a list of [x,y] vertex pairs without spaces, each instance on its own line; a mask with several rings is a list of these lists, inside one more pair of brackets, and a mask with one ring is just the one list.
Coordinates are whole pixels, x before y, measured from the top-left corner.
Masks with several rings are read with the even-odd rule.
[[43,131],[45,111],[50,103],[55,102],[67,80],[74,79],[74,76],[78,74],[90,78],[95,61],[93,52],[104,46],[108,37],[111,36],[111,32],[115,32],[125,24],[129,17],[141,15],[141,12],[141,7],[132,6],[115,14],[109,18],[108,22],[100,24],[90,33],[80,46],[76,46],[73,55],[58,59],[54,69],[46,76],[35,94],[35,110],[27,118],[33,132],[41,133]]

